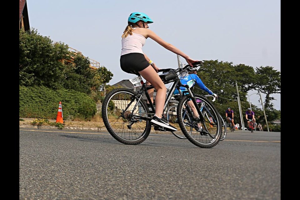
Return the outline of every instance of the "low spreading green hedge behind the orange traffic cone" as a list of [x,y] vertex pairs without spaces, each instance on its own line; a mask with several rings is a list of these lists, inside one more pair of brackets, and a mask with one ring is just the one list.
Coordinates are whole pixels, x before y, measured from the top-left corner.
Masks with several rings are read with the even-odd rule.
[[85,93],[64,88],[19,86],[19,117],[56,119],[60,101],[65,120],[89,120],[97,112],[95,101]]

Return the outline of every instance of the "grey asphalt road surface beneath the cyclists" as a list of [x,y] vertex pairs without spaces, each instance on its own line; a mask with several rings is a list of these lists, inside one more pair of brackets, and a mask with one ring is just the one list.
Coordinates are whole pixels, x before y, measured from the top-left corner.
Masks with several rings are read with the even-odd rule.
[[281,133],[236,131],[204,149],[172,134],[19,129],[19,199],[281,199]]

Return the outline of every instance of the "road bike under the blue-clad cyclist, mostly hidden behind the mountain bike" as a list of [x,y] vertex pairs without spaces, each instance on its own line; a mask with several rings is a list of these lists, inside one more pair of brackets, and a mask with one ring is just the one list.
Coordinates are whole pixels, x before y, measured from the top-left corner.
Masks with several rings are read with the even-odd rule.
[[[179,96],[179,97],[176,98],[176,96]],[[205,95],[204,97],[205,97],[205,98],[207,98],[207,97],[212,97],[212,98],[213,98],[213,99],[212,99],[212,102],[214,102],[215,99],[216,99],[213,95]],[[175,95],[175,99],[178,99],[178,100],[179,100],[180,98],[181,98],[180,95]],[[198,98],[196,97],[196,102],[197,102],[197,103],[200,103],[201,100],[198,99]],[[205,112],[209,112],[209,110],[206,108],[206,106],[203,107],[203,110],[204,110]],[[205,113],[202,113],[202,114],[206,115]],[[166,114],[166,115],[167,115],[167,120],[168,120],[169,123],[171,123],[171,124],[173,124],[173,125],[177,124],[177,123],[178,123],[178,117],[177,117],[177,105],[170,106],[170,107],[168,108],[168,110],[167,110],[167,114]],[[183,109],[182,116],[183,116],[182,118],[184,119],[185,125],[186,125],[186,126],[192,126],[192,123],[189,123],[189,122],[191,122],[191,119],[190,119],[189,115],[187,114],[187,110],[186,110],[186,109]],[[208,117],[208,116],[206,115],[206,117]],[[227,135],[227,129],[226,129],[226,123],[224,122],[224,120],[222,119],[222,117],[221,117],[220,114],[219,114],[219,117],[220,117],[220,119],[221,119],[221,121],[222,121],[222,134],[221,134],[221,137],[220,137],[220,141],[222,141],[222,140],[225,139],[225,137],[226,137],[226,135]],[[209,120],[209,117],[208,117],[208,120]],[[175,125],[175,126],[176,126],[176,125]],[[179,139],[187,139],[187,138],[185,137],[185,135],[183,134],[183,132],[180,132],[180,131],[173,131],[173,132],[171,132],[171,133],[173,133],[173,135],[176,136],[176,137],[179,138]]]

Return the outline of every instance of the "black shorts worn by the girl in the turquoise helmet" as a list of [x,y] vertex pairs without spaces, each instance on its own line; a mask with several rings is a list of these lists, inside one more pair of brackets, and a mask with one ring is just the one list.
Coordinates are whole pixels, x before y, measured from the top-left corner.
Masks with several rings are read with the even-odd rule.
[[150,64],[142,53],[128,53],[120,58],[121,69],[124,72],[139,75],[138,72],[146,69]]

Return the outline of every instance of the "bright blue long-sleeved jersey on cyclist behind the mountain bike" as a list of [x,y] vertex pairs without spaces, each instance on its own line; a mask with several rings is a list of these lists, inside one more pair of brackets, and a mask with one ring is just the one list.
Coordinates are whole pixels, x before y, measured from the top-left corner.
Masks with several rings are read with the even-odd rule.
[[[197,85],[202,89],[204,90],[205,92],[207,92],[208,94],[212,95],[213,92],[210,91],[204,84],[203,82],[201,81],[201,79],[197,76],[197,74],[188,74],[184,77],[181,78],[181,83],[183,85],[188,85],[189,88],[193,87],[196,83]],[[181,91],[187,91],[187,88],[184,88],[184,87],[180,87],[180,90]],[[179,92],[177,91],[177,89],[175,90],[174,94],[179,94]]]

